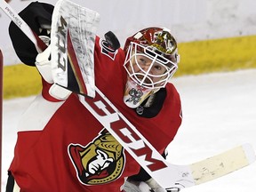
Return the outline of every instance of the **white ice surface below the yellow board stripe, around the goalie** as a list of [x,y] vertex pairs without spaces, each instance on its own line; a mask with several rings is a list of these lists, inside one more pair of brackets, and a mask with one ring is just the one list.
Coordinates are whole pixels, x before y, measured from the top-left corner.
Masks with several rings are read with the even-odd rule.
[[[191,164],[229,148],[256,149],[256,69],[173,78],[180,92],[183,123],[168,147],[172,164]],[[2,188],[12,161],[16,126],[34,97],[4,100]],[[255,192],[256,163],[184,192]]]

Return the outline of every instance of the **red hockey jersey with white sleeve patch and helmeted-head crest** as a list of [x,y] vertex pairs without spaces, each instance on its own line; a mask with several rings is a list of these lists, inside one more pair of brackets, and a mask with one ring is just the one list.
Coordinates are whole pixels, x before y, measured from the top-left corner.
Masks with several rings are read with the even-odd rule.
[[[127,74],[124,51],[109,52],[96,38],[95,84],[160,152],[181,124],[180,96],[167,84],[157,116],[141,117],[123,101]],[[10,171],[26,192],[120,191],[124,178],[140,171],[138,164],[84,108],[75,93],[54,100],[43,80],[38,95],[21,118]]]

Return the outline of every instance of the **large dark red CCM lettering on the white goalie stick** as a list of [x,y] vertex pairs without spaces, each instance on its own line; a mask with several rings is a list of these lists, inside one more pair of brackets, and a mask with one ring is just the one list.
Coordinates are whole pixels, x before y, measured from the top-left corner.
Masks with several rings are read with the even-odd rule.
[[[124,119],[118,115],[108,103],[100,96],[96,94],[96,97],[92,99],[81,100],[84,106],[92,112],[100,124],[104,125],[111,134],[119,141],[125,144],[123,147],[132,151],[133,157],[144,158],[147,162],[147,167],[151,172],[166,168],[167,165],[163,161],[154,158],[153,151],[148,145],[140,138],[140,136],[133,131],[132,127],[127,124]],[[89,105],[89,106],[88,106]],[[128,120],[127,120],[128,121]],[[110,129],[110,130],[109,130]]]

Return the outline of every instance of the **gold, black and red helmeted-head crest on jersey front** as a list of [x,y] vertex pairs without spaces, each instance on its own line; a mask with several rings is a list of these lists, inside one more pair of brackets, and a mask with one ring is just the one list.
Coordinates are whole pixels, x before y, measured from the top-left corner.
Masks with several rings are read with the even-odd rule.
[[124,171],[124,148],[107,131],[83,147],[69,144],[68,154],[84,185],[99,185],[117,180]]

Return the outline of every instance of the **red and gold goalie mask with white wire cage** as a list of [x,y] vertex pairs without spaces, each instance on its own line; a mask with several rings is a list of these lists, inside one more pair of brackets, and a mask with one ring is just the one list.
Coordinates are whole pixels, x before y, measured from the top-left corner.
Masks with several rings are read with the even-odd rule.
[[127,83],[124,103],[137,108],[148,96],[164,88],[178,68],[177,43],[166,28],[145,28],[124,44]]

